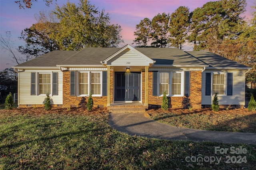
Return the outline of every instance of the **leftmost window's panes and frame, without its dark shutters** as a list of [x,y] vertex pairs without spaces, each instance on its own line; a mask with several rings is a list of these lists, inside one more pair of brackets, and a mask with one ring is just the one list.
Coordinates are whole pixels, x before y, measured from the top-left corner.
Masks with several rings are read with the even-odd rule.
[[38,94],[51,94],[51,74],[39,75],[39,91]]

